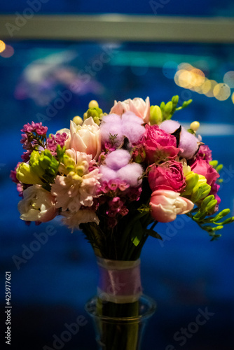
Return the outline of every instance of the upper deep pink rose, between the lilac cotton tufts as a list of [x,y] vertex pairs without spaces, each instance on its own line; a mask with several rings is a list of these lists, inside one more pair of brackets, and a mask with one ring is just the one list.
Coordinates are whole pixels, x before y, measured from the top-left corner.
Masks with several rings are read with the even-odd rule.
[[146,152],[146,160],[150,164],[167,157],[173,158],[180,150],[177,148],[177,139],[160,130],[158,125],[146,125],[146,132],[142,141]]

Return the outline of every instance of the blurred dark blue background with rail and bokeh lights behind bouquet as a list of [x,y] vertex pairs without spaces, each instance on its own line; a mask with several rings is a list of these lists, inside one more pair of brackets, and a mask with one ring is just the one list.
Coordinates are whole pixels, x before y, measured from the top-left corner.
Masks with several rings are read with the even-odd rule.
[[[234,215],[233,1],[12,0],[0,11],[1,332],[9,271],[12,349],[96,349],[84,309],[96,292],[92,248],[57,219],[20,221],[9,179],[21,159],[20,129],[33,120],[55,133],[83,116],[91,99],[107,113],[115,99],[193,99],[174,119],[200,121],[202,141],[223,164],[220,208]],[[142,349],[233,349],[234,226],[213,242],[186,216],[156,230],[163,242],[149,238],[142,251],[144,293],[158,304]],[[197,329],[200,310],[208,316]],[[65,324],[80,315],[87,323],[62,341]],[[190,330],[185,342],[181,328]]]

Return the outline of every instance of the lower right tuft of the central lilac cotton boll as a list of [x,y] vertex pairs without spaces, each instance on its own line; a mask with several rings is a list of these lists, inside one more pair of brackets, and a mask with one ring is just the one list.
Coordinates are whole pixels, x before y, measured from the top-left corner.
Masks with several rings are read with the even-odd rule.
[[137,163],[130,163],[121,168],[117,172],[118,179],[126,181],[132,187],[137,187],[142,183],[142,179],[138,180],[142,176],[143,169],[141,165]]

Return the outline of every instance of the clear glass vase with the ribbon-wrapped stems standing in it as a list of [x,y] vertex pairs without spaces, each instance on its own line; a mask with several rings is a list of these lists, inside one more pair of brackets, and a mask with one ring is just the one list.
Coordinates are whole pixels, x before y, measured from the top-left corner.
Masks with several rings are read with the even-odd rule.
[[97,262],[97,296],[87,302],[85,309],[95,324],[98,349],[140,350],[146,322],[156,304],[141,293],[139,260],[98,258]]

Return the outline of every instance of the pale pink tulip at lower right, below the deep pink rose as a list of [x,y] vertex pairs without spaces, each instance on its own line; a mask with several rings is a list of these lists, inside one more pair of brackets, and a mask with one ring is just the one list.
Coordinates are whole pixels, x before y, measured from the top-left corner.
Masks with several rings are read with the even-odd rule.
[[180,197],[179,193],[169,190],[156,190],[151,195],[151,216],[160,223],[170,223],[179,214],[193,209],[193,202]]

